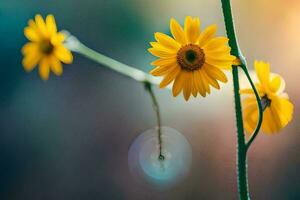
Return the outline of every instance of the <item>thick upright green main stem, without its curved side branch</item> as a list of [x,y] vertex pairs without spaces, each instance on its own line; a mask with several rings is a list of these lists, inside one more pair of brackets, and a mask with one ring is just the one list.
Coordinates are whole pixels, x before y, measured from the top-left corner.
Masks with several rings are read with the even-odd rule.
[[[240,55],[239,46],[235,36],[233,18],[231,13],[230,0],[221,0],[222,9],[225,21],[227,36],[229,38],[229,45],[231,47],[231,54],[237,58]],[[238,191],[241,200],[248,200],[248,178],[247,178],[247,151],[245,145],[243,116],[241,108],[241,99],[239,93],[239,77],[238,67],[232,67],[234,100],[235,100],[235,114],[237,126],[237,176],[238,176]]]

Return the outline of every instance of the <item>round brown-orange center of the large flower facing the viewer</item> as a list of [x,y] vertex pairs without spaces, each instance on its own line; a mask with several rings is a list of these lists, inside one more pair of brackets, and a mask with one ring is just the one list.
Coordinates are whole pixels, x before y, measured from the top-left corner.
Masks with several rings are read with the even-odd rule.
[[200,69],[204,62],[204,52],[195,44],[185,45],[177,52],[177,63],[183,70],[194,71]]

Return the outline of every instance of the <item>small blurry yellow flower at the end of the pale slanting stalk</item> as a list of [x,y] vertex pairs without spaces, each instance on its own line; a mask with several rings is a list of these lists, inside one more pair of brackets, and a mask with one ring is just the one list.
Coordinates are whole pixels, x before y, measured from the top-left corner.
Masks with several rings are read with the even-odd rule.
[[53,15],[48,15],[45,21],[41,15],[36,15],[35,21],[28,21],[24,34],[29,40],[22,48],[22,64],[27,72],[39,64],[40,77],[48,80],[50,70],[58,76],[62,74],[61,62],[72,63],[73,56],[63,45],[65,36],[57,32]]

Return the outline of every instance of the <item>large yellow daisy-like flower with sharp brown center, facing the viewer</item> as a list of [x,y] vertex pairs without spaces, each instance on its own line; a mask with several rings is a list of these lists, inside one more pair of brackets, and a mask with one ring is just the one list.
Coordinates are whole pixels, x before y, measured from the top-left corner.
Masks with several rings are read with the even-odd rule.
[[156,57],[152,62],[156,66],[150,73],[164,76],[160,87],[164,88],[172,81],[173,95],[182,90],[185,100],[198,92],[204,97],[210,93],[210,85],[220,89],[218,81],[227,82],[222,69],[231,69],[235,59],[230,55],[226,37],[215,37],[216,25],[200,32],[199,18],[186,17],[184,29],[175,19],[171,19],[170,29],[173,38],[155,33],[157,42],[151,42],[148,51]]

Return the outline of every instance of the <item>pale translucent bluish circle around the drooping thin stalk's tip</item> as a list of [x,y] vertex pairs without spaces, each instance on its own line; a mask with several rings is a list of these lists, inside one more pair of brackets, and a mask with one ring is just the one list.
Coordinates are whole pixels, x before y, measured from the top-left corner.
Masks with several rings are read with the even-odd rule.
[[192,163],[192,150],[177,130],[162,127],[162,154],[159,160],[157,129],[141,133],[128,152],[129,170],[140,183],[156,189],[167,189],[187,176]]

